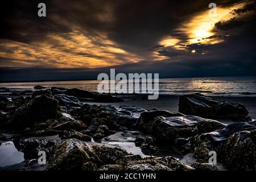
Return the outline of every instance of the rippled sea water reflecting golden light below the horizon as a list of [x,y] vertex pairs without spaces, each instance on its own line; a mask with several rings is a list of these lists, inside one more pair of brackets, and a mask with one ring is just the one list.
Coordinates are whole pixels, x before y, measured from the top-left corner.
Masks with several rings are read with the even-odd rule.
[[[36,85],[46,87],[78,88],[97,91],[99,80],[46,81],[0,83],[0,88],[33,89]],[[118,81],[117,81],[118,82]],[[160,78],[159,94],[203,93],[209,96],[250,96],[256,97],[256,77],[201,77],[201,78]]]

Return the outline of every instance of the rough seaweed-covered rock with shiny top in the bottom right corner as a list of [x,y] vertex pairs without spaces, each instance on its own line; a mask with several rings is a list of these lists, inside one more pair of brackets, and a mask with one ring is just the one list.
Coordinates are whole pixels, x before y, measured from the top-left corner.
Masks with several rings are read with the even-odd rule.
[[222,130],[196,135],[184,145],[186,152],[195,152],[197,159],[208,161],[209,151],[216,151],[218,160],[233,170],[256,168],[256,121],[232,123]]

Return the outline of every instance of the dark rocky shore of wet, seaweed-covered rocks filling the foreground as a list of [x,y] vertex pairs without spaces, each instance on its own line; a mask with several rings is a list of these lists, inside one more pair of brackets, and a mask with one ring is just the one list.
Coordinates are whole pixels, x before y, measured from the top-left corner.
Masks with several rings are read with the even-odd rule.
[[[256,170],[256,121],[241,104],[192,94],[173,113],[85,104],[123,99],[80,89],[1,90],[0,147],[13,143],[23,158],[0,170]],[[218,164],[209,164],[209,151]]]

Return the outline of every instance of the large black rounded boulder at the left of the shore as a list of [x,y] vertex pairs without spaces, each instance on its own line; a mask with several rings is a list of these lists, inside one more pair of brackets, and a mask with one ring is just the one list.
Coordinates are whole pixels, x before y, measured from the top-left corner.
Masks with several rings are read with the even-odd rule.
[[56,118],[58,116],[58,101],[46,95],[37,96],[15,110],[10,126],[24,129],[38,121]]

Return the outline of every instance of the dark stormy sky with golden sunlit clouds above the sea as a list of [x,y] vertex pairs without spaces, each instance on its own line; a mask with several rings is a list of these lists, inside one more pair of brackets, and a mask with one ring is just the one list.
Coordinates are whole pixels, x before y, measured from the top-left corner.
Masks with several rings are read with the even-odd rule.
[[[46,17],[38,4],[46,4]],[[216,14],[209,14],[209,3]],[[1,2],[2,4],[2,2]],[[255,1],[6,1],[0,81],[255,76]]]

